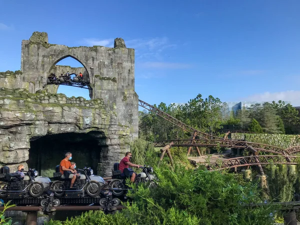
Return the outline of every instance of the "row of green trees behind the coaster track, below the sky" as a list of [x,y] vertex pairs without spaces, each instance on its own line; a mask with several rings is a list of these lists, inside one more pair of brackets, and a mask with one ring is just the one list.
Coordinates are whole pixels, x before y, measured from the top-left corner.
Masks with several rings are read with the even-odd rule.
[[[253,119],[256,120],[256,128],[261,126],[262,130],[258,128],[259,132],[300,133],[298,111],[292,105],[285,104],[284,101],[254,104],[248,108],[242,107],[233,113],[229,111],[227,103],[222,103],[219,98],[209,95],[203,99],[201,94],[198,94],[185,104],[166,105],[161,102],[154,106],[187,125],[207,133],[216,133],[222,127],[231,130],[249,130],[253,128],[251,126]],[[155,113],[144,110],[139,111],[139,137],[155,141],[190,138],[190,134]]]

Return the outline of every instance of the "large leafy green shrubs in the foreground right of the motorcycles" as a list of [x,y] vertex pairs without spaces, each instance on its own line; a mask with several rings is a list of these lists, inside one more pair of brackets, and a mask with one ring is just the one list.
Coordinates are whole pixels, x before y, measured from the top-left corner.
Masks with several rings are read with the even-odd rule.
[[[147,150],[145,150],[147,149]],[[58,224],[271,224],[268,206],[249,208],[250,202],[261,202],[255,182],[245,182],[240,174],[187,168],[174,158],[172,168],[165,158],[160,167],[157,151],[144,140],[131,144],[133,161],[154,167],[158,178],[156,188],[139,185],[129,195],[133,204],[115,213],[85,212]],[[140,155],[143,155],[142,158]],[[143,160],[142,160],[143,159]],[[134,161],[136,162],[136,161]]]

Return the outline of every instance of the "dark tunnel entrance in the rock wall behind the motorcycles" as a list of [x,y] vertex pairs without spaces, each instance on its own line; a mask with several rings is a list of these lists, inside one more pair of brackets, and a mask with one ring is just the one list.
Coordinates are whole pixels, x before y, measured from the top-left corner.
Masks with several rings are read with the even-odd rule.
[[38,174],[52,177],[55,166],[64,158],[64,154],[71,152],[71,161],[76,163],[76,168],[90,166],[96,174],[103,150],[103,132],[47,134],[30,140],[29,159],[26,162]]

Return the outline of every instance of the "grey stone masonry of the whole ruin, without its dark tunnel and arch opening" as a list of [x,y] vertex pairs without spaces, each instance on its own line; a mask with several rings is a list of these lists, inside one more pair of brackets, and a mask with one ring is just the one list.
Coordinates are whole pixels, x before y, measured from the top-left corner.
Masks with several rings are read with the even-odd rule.
[[[92,100],[42,91],[51,66],[68,55],[86,68]],[[9,89],[0,88],[0,163],[2,158],[3,163],[26,161],[31,137],[53,130],[61,132],[66,123],[78,132],[106,130],[110,158],[111,154],[121,156],[128,150],[127,143],[138,136],[134,49],[126,48],[121,38],[115,39],[114,47],[68,47],[48,43],[45,32],[33,32],[28,40],[22,40],[21,71],[1,75],[0,87]],[[25,91],[15,90],[18,88]],[[16,134],[22,132],[16,128],[24,129],[24,133]],[[7,139],[8,136],[11,137]],[[15,157],[10,157],[10,150]],[[109,163],[105,165],[107,171],[112,167]]]

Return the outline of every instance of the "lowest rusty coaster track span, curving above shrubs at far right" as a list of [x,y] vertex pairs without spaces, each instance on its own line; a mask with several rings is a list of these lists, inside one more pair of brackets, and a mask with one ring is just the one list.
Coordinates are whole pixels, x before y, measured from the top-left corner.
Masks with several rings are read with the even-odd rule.
[[257,156],[245,156],[227,158],[222,160],[220,163],[215,163],[212,166],[212,170],[220,170],[226,168],[234,168],[247,165],[263,165],[263,164],[297,164],[297,158],[299,156],[288,156],[283,155],[257,155]]

